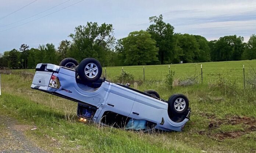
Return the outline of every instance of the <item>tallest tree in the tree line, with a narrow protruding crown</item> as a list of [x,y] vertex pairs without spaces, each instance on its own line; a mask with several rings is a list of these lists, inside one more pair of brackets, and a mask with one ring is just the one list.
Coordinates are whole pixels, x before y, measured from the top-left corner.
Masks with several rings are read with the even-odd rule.
[[151,34],[151,37],[156,40],[156,46],[159,48],[160,63],[173,62],[176,54],[174,48],[174,27],[163,21],[163,15],[150,17],[149,21],[152,24],[147,28],[147,31]]

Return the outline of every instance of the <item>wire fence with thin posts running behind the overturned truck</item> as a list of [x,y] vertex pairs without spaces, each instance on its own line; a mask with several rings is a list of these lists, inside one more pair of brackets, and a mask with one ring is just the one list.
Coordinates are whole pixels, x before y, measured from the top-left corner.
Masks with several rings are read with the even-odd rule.
[[[8,73],[21,73],[31,72],[35,73],[35,68],[22,69],[16,68],[1,68],[0,73],[3,70],[9,70]],[[244,65],[201,65],[201,64],[174,64],[174,65],[146,65],[146,66],[115,66],[115,67],[104,67],[102,76],[106,79],[114,79],[122,72],[129,72],[134,75],[135,80],[149,81],[149,80],[164,80],[170,71],[175,72],[175,79],[188,80],[192,79],[198,83],[210,83],[219,77],[225,77],[230,81],[237,81],[245,86],[246,77],[248,77],[251,71],[250,66]]]

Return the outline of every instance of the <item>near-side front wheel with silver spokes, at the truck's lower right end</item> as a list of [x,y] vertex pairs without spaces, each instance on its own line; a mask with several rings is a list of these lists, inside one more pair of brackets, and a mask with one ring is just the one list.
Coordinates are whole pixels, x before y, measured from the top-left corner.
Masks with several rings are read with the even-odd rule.
[[[181,101],[180,101],[181,99]],[[177,102],[175,102],[177,100]],[[185,105],[183,103],[185,102]],[[179,104],[179,105],[178,105]],[[175,106],[176,105],[176,108]],[[168,114],[183,114],[188,110],[189,101],[183,94],[174,94],[168,99]],[[182,108],[183,106],[183,108]],[[181,109],[182,108],[182,109]],[[180,110],[179,110],[180,109]]]

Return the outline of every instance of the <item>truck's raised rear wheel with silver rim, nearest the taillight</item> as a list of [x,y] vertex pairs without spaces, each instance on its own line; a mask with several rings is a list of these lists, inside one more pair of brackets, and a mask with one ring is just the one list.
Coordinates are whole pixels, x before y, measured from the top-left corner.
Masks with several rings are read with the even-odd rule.
[[[87,65],[93,65],[93,68],[92,69],[88,69],[86,68]],[[95,66],[95,67],[94,67]],[[90,71],[90,70],[93,70],[97,67],[97,72],[96,71]],[[90,76],[87,76],[85,74],[86,70],[88,71],[87,75],[92,75],[91,77]],[[100,62],[95,59],[95,58],[86,58],[86,59],[83,59],[80,64],[78,65],[78,68],[77,68],[77,73],[78,73],[78,76],[80,79],[82,79],[83,81],[86,81],[86,82],[95,82],[97,80],[100,79],[100,76],[102,74],[102,66],[100,65]],[[96,74],[96,75],[95,75]]]

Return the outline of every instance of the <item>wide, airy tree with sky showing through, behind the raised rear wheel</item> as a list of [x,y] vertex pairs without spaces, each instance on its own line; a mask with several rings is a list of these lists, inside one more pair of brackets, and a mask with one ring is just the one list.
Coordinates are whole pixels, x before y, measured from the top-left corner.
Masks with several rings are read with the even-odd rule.
[[69,35],[72,43],[68,55],[78,61],[88,57],[96,58],[102,65],[106,65],[106,55],[115,41],[113,34],[113,26],[106,23],[98,25],[97,22],[87,22],[85,26],[75,27],[75,33]]

